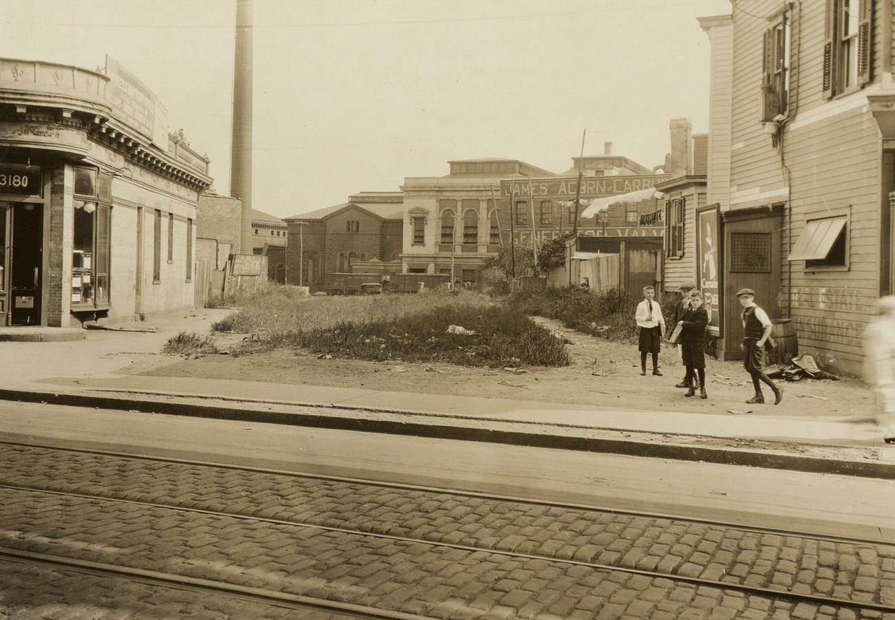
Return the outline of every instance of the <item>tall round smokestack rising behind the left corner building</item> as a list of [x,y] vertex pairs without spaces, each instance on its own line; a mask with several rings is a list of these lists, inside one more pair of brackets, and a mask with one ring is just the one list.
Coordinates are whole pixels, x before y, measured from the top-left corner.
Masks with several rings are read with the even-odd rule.
[[236,0],[233,67],[233,138],[230,195],[243,200],[240,253],[251,254],[251,9],[254,0]]

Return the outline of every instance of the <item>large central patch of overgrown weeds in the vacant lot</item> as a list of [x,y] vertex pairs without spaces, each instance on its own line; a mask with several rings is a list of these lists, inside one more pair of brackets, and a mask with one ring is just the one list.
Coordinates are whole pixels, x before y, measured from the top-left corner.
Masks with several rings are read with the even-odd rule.
[[[474,334],[449,334],[452,325]],[[252,334],[268,347],[297,345],[364,360],[491,367],[569,363],[564,344],[548,330],[480,293],[296,299],[271,289],[212,327]]]

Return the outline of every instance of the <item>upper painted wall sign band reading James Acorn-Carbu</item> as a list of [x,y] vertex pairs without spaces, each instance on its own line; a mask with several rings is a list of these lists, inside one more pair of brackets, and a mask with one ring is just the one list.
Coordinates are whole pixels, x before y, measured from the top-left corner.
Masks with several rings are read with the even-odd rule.
[[[612,196],[624,194],[628,191],[648,190],[655,187],[656,183],[667,181],[668,174],[638,174],[622,176],[598,176],[585,177],[581,180],[581,197],[595,198],[597,196]],[[500,196],[509,198],[510,192],[518,199],[524,199],[529,195],[529,187],[535,198],[566,198],[574,199],[578,187],[577,178],[562,179],[528,179],[501,181]]]

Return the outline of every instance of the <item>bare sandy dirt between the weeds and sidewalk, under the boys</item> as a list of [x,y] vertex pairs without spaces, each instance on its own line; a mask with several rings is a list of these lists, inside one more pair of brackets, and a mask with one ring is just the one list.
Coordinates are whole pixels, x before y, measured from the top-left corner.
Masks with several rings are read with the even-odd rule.
[[[567,344],[572,364],[565,368],[484,369],[450,364],[418,364],[320,359],[292,348],[240,355],[206,355],[195,359],[156,357],[147,368],[135,364],[132,372],[154,376],[233,378],[243,381],[307,384],[314,386],[365,387],[421,394],[471,395],[531,400],[539,403],[575,403],[613,409],[659,410],[733,414],[834,416],[869,420],[873,395],[855,378],[838,381],[806,379],[782,382],[785,394],[778,406],[765,389],[768,404],[746,404],[753,394],[740,362],[708,360],[708,399],[686,398],[686,390],[674,386],[684,376],[678,353],[666,347],[660,356],[664,376],[641,377],[639,353],[634,345],[610,343],[559,326],[557,321],[536,320],[558,330]],[[243,344],[242,335],[215,334],[226,349]],[[154,356],[155,357],[155,356]],[[170,363],[167,361],[170,360]],[[160,362],[160,363],[159,363]]]

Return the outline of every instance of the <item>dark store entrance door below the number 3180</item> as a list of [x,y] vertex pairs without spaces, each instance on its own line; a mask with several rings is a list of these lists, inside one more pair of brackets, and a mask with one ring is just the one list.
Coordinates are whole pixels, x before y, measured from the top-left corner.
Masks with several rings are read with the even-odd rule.
[[10,323],[40,325],[44,255],[44,209],[29,202],[8,203]]

